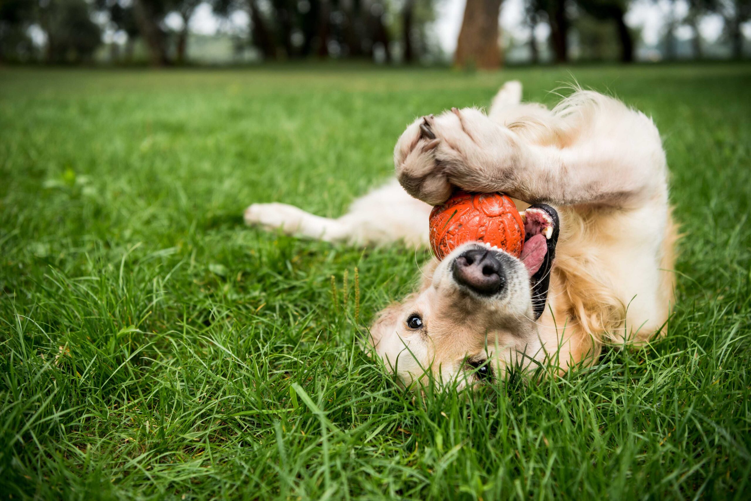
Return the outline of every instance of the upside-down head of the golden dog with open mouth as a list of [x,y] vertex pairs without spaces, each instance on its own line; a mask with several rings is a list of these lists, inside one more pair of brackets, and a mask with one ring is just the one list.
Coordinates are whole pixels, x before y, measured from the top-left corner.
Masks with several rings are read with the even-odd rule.
[[559,218],[545,204],[525,215],[520,258],[465,243],[437,264],[418,293],[381,312],[372,344],[406,384],[427,373],[460,387],[492,381],[517,354],[539,346],[536,321],[547,300]]

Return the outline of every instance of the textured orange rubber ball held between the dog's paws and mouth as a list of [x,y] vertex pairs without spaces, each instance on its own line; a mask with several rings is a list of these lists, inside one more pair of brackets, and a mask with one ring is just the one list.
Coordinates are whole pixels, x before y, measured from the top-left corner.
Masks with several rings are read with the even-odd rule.
[[502,193],[454,192],[430,213],[430,246],[442,260],[458,246],[478,240],[517,258],[524,245],[524,222]]

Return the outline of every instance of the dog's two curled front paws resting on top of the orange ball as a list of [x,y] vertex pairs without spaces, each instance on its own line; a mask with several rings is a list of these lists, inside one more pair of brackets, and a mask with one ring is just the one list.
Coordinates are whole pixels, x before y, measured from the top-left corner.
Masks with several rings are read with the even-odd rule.
[[452,186],[498,191],[499,166],[507,150],[505,128],[480,110],[452,108],[409,125],[394,149],[394,164],[406,192],[436,205],[448,199]]

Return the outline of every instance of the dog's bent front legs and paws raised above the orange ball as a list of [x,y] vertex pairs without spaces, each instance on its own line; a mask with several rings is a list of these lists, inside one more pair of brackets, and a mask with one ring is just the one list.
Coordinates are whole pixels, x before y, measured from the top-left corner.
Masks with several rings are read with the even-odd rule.
[[642,113],[578,92],[552,116],[514,128],[472,108],[423,117],[397,143],[397,177],[430,204],[445,201],[453,185],[529,203],[625,207],[665,186],[662,142]]

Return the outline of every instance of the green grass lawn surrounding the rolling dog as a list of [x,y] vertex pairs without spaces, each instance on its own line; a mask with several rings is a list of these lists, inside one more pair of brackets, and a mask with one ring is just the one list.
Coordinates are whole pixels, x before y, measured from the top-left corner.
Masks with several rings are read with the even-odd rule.
[[[338,216],[414,116],[572,77],[665,138],[686,236],[647,349],[405,393],[357,340],[424,254],[242,224]],[[748,499],[749,138],[751,65],[2,70],[0,497]]]

